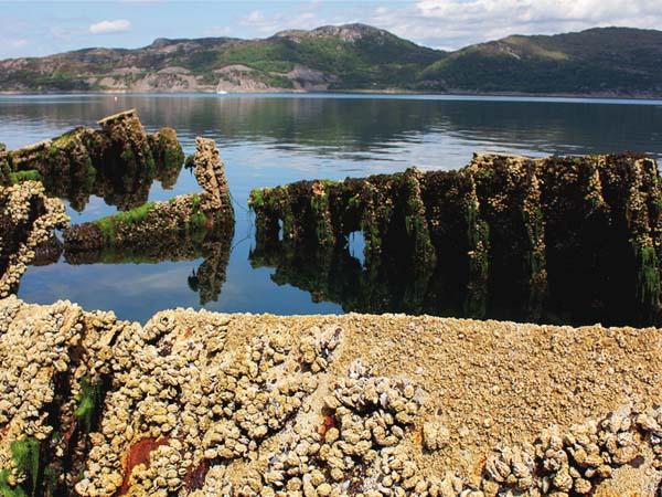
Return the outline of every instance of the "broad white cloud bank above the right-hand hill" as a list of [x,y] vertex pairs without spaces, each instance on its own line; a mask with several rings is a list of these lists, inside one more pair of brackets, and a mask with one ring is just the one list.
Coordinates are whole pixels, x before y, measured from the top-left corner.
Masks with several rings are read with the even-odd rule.
[[659,29],[662,9],[660,0],[418,0],[377,7],[369,22],[431,46],[458,49],[509,34],[606,25]]

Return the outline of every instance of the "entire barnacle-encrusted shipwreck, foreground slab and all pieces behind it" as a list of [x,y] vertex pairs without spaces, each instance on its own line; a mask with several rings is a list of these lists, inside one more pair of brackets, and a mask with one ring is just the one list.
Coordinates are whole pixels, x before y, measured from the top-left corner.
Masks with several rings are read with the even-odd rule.
[[[492,317],[501,299],[536,320],[552,299],[659,322],[654,160],[477,155],[254,190],[254,266],[383,315],[174,309],[141,325],[12,295],[29,264],[62,256],[202,256],[188,283],[218,298],[234,209],[215,142],[186,159],[200,192],[147,202],[182,168],[177,134],[135,112],[99,126],[0,146],[2,497],[659,495],[659,328],[426,315]],[[70,225],[62,199],[90,194],[119,212]]]

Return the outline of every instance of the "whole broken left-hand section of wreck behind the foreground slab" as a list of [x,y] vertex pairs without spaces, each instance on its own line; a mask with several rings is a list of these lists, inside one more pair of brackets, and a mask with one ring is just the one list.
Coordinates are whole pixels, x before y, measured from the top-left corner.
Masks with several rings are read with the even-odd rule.
[[[98,130],[81,127],[13,151],[0,145],[0,295],[17,290],[28,264],[55,262],[65,251],[67,261],[76,263],[203,254],[205,262],[190,277],[190,286],[200,290],[203,303],[217,299],[234,210],[214,141],[197,138],[189,158],[200,194],[146,203],[152,181],[168,188],[183,166],[177,133],[146,133],[136,110],[98,124]],[[90,194],[126,212],[68,228],[58,198],[82,209]],[[64,230],[64,246],[54,229]]]

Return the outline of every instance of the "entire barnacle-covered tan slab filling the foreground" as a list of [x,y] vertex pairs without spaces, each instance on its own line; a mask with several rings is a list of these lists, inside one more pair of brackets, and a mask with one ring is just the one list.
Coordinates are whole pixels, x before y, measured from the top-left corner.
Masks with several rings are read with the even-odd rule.
[[[140,326],[15,297],[0,317],[10,489],[653,497],[662,479],[654,328],[190,309]],[[36,466],[17,456],[35,446]]]

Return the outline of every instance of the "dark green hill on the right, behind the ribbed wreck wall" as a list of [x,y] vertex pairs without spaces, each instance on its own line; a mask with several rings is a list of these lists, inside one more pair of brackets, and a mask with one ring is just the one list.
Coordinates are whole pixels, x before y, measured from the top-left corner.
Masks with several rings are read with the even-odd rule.
[[437,91],[662,95],[661,67],[662,32],[606,28],[468,46],[418,80]]

